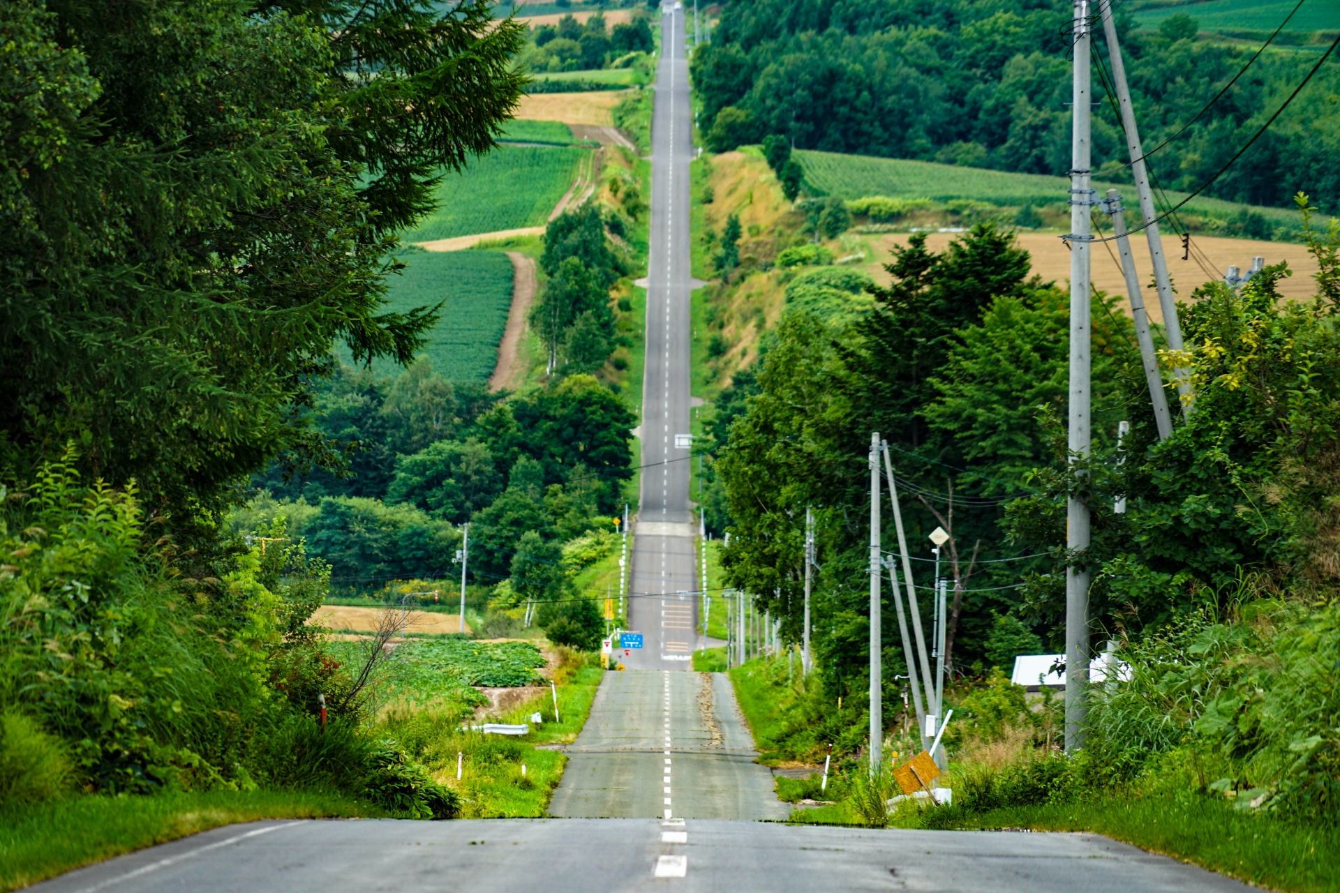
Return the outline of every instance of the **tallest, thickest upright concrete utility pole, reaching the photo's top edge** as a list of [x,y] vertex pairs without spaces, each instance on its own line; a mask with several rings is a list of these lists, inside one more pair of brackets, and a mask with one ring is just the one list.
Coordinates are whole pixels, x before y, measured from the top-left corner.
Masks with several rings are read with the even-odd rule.
[[[1071,388],[1069,461],[1089,454],[1089,371],[1092,356],[1089,331],[1089,0],[1075,3],[1075,91],[1071,115]],[[1065,501],[1065,548],[1079,553],[1089,546],[1089,510],[1071,495]],[[1084,746],[1084,695],[1088,685],[1088,570],[1076,565],[1065,569],[1065,752]]]

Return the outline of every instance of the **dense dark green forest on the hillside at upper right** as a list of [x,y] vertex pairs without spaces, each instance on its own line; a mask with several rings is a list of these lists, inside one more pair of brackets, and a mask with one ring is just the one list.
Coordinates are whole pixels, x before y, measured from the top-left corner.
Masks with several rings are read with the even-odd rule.
[[[694,52],[698,125],[714,151],[785,137],[797,149],[915,158],[1009,171],[1069,169],[1072,8],[1061,0],[736,0]],[[1199,39],[1186,15],[1134,31],[1122,52],[1146,151],[1163,189],[1214,175],[1316,64],[1272,48],[1203,115],[1253,50]],[[1095,42],[1095,177],[1128,181],[1106,47]],[[1335,64],[1206,194],[1288,206],[1298,190],[1340,206]],[[1194,120],[1193,120],[1194,119]]]

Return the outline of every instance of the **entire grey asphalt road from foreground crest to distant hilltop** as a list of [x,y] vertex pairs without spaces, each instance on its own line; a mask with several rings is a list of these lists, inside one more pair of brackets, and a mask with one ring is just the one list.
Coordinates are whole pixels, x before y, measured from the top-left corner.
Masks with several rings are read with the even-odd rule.
[[[689,431],[690,106],[683,13],[667,15],[653,129],[643,462]],[[643,470],[630,625],[646,648],[610,673],[553,815],[457,822],[255,822],[123,856],[43,893],[602,893],[954,890],[1201,893],[1250,888],[1092,834],[785,826],[728,680],[682,672],[697,600],[689,463]],[[671,672],[681,671],[681,672]],[[667,818],[673,815],[674,818]],[[627,818],[580,818],[627,817]]]

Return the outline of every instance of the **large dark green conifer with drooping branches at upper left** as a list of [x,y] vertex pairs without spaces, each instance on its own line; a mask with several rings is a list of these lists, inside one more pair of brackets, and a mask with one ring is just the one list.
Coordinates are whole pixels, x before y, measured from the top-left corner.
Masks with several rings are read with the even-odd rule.
[[482,1],[0,4],[0,465],[67,442],[176,529],[308,422],[331,348],[407,363],[394,233],[521,78]]

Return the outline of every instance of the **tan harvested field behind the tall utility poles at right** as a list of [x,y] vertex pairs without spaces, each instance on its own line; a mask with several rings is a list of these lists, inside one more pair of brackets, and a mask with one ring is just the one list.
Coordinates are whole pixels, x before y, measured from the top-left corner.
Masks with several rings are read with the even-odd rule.
[[[926,240],[926,246],[934,252],[941,252],[955,237],[957,233],[931,233]],[[883,264],[890,261],[892,246],[906,245],[909,238],[910,236],[906,233],[866,237],[870,246],[875,249],[875,254],[871,258],[872,262],[866,265],[866,272],[875,281],[887,284],[890,277],[884,272]],[[1308,254],[1305,245],[1205,236],[1195,236],[1191,241],[1193,245],[1197,245],[1210,258],[1217,276],[1223,276],[1223,270],[1229,265],[1238,266],[1245,272],[1252,266],[1254,256],[1264,257],[1266,264],[1278,264],[1286,260],[1289,261],[1289,269],[1293,270],[1293,276],[1280,282],[1280,292],[1293,299],[1311,297],[1315,292],[1316,281],[1312,277],[1317,272],[1317,261],[1312,254]],[[1071,280],[1071,252],[1057,236],[1048,233],[1021,233],[1018,244],[1032,254],[1034,273],[1044,280],[1053,280],[1063,288],[1067,287]],[[1103,245],[1093,246],[1093,285],[1110,295],[1124,297],[1126,278],[1122,276],[1120,256],[1116,254],[1115,242],[1107,244],[1112,248],[1111,256]],[[1172,277],[1172,288],[1178,291],[1182,300],[1187,300],[1193,289],[1210,278],[1194,260],[1182,260],[1182,245],[1175,236],[1163,238],[1163,252],[1168,258],[1168,274]],[[1131,240],[1131,253],[1135,256],[1135,270],[1140,285],[1147,287],[1154,280],[1154,269],[1150,265],[1150,249],[1143,236]],[[1114,256],[1116,260],[1114,260]],[[1193,258],[1194,256],[1193,253]],[[1158,295],[1152,288],[1143,288],[1143,295],[1144,305],[1150,312],[1150,320],[1162,323],[1163,312],[1159,308]],[[1123,300],[1122,307],[1126,307],[1127,312],[1130,312],[1127,301]]]

